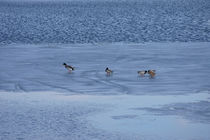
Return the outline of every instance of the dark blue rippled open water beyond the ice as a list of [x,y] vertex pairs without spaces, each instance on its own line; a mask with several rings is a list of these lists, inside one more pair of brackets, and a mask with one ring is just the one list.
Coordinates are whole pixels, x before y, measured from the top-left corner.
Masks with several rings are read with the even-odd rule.
[[0,44],[209,42],[209,0],[0,2]]

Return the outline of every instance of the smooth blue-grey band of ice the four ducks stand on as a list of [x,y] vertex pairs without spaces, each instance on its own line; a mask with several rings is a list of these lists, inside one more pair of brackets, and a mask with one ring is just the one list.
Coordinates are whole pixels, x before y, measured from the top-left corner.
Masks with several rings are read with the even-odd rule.
[[[209,43],[6,45],[0,60],[0,89],[6,91],[171,95],[210,87]],[[138,76],[148,69],[157,71],[154,79]]]

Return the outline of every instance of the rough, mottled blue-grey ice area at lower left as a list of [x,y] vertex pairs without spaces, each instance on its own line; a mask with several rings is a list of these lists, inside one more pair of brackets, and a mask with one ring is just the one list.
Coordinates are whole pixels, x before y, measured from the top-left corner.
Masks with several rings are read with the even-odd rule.
[[[72,99],[73,98],[73,99]],[[78,98],[78,99],[77,99]],[[81,98],[81,99],[80,99]],[[96,129],[87,121],[103,106],[56,93],[0,92],[0,140],[126,140],[130,134]],[[130,136],[129,136],[130,135]]]

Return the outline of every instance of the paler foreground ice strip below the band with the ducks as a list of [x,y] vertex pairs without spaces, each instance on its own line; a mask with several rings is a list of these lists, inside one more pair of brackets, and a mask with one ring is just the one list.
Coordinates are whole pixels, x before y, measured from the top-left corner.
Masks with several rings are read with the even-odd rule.
[[0,139],[209,140],[209,98],[0,92]]

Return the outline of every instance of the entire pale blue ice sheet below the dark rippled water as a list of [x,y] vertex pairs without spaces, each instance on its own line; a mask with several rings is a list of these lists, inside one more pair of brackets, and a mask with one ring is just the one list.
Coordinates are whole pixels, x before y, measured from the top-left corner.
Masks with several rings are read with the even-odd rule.
[[3,45],[0,139],[209,140],[209,45]]

